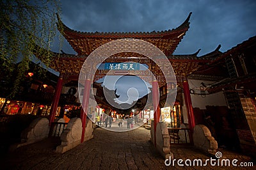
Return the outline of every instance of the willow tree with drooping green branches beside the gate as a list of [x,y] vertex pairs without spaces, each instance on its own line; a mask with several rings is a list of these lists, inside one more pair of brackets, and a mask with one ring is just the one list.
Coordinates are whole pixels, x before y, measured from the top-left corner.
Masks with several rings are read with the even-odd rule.
[[58,30],[56,13],[60,13],[61,5],[58,0],[0,0],[0,6],[0,70],[10,77],[14,69],[19,70],[10,94],[14,97],[36,46],[46,49],[42,62],[49,66],[51,43]]

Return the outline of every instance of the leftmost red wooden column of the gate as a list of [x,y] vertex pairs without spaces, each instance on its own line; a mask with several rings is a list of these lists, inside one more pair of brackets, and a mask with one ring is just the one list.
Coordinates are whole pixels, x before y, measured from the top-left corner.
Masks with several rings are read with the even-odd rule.
[[63,84],[63,76],[60,74],[60,77],[58,79],[56,90],[52,99],[52,105],[51,105],[51,111],[50,111],[50,118],[49,118],[49,125],[51,126],[52,122],[54,122],[57,107],[60,100],[61,90],[62,90],[62,84]]

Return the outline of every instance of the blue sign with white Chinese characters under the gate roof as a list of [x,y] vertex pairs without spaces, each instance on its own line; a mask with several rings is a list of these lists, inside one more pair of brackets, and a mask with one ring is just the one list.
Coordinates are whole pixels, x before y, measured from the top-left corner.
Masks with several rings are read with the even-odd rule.
[[140,63],[104,63],[105,70],[140,70]]

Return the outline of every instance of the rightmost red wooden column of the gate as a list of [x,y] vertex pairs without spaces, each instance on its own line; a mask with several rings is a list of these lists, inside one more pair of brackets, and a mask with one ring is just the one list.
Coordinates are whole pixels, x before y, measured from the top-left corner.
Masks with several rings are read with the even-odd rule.
[[187,111],[188,111],[188,124],[189,124],[189,129],[190,129],[189,140],[193,142],[192,134],[193,134],[193,130],[195,128],[195,116],[194,116],[194,112],[193,112],[193,106],[192,106],[192,102],[191,102],[188,81],[183,82],[183,91],[184,91],[185,104],[186,104]]

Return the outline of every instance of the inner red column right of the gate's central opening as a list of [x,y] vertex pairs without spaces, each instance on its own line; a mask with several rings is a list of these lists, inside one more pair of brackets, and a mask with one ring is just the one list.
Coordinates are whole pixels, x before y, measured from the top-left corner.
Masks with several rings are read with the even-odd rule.
[[160,107],[159,107],[159,92],[158,92],[158,83],[157,81],[152,82],[152,98],[153,98],[153,107],[154,107],[154,143],[156,146],[156,125],[159,122],[160,118]]

